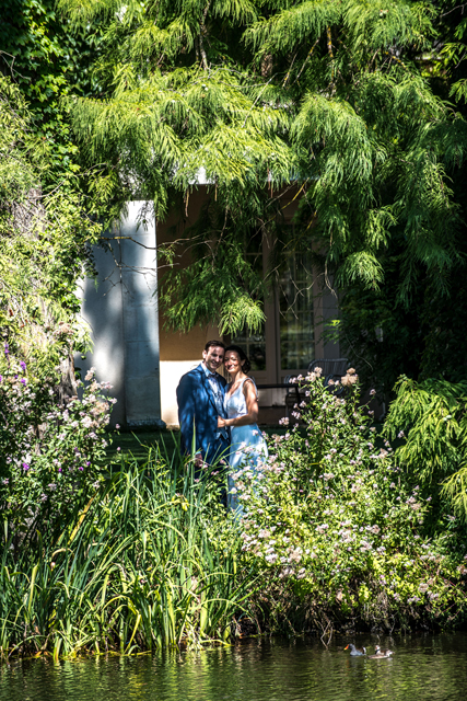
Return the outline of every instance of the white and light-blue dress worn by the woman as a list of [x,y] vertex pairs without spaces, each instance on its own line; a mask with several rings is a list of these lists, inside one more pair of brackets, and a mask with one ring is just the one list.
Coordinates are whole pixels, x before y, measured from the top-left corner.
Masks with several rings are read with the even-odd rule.
[[[225,388],[224,409],[227,418],[237,418],[238,416],[245,416],[248,413],[246,406],[246,399],[243,393],[243,386],[246,380],[250,380],[255,387],[256,384],[252,378],[245,377],[235,392],[229,397],[230,388],[232,384],[227,384]],[[258,391],[256,390],[256,395]],[[268,458],[268,447],[266,440],[262,438],[261,432],[257,424],[249,424],[247,426],[231,426],[231,451],[229,456],[229,496],[227,504],[233,510],[242,512],[242,499],[235,482],[235,474],[238,471],[249,468],[254,473],[257,471],[259,462],[266,462]]]

